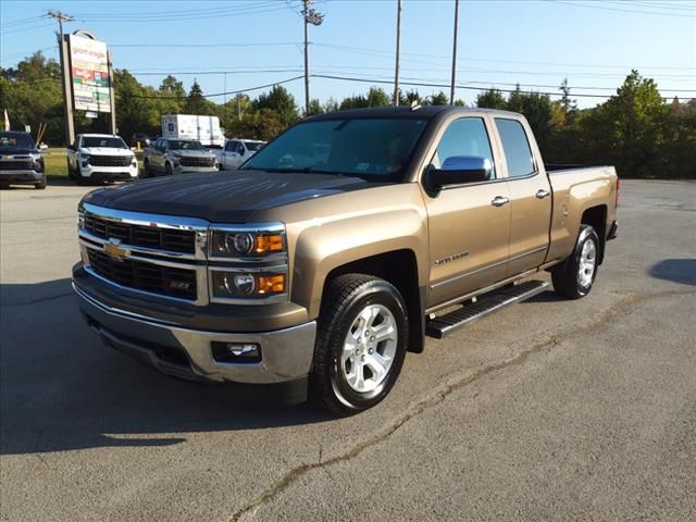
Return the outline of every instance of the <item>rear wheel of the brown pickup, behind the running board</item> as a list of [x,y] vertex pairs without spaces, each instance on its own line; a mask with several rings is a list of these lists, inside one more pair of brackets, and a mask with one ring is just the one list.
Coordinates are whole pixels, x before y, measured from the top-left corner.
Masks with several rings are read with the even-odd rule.
[[599,237],[589,225],[582,225],[573,253],[551,269],[556,294],[568,299],[580,299],[592,290],[597,276]]

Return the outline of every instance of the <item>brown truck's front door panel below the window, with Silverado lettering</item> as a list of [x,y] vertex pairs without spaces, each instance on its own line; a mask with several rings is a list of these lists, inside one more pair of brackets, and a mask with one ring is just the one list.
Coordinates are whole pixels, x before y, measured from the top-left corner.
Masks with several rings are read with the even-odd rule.
[[506,182],[445,189],[425,196],[431,240],[428,307],[505,278],[510,238]]

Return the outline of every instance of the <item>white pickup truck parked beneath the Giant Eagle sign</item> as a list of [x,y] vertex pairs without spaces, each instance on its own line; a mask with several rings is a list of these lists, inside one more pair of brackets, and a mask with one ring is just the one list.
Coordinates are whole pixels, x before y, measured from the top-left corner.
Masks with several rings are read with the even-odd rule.
[[132,182],[138,160],[121,136],[78,134],[67,148],[67,175],[77,183]]

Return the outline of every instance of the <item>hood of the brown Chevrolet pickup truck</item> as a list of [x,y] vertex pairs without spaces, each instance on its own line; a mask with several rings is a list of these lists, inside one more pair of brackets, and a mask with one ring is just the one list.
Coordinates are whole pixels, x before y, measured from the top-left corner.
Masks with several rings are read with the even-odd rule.
[[89,192],[83,202],[116,210],[246,223],[254,212],[377,186],[357,177],[204,172],[158,177]]

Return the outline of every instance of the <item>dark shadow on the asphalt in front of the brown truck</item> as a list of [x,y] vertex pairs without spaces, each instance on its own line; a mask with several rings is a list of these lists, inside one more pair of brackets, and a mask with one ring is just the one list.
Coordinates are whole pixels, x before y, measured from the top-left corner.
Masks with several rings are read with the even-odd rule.
[[70,279],[0,285],[0,455],[169,446],[186,434],[294,426],[331,415],[306,382],[201,385],[107,348]]

